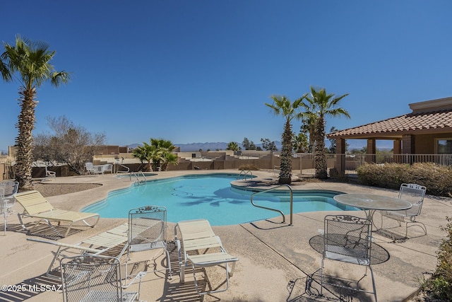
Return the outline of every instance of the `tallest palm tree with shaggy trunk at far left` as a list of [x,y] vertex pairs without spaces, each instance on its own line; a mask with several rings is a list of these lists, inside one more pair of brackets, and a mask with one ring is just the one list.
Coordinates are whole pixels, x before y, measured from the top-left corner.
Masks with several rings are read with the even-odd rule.
[[[36,89],[50,81],[53,86],[69,81],[69,74],[55,71],[50,60],[55,55],[46,42],[33,42],[16,36],[16,45],[4,43],[0,56],[0,72],[4,81],[20,81],[20,115],[16,127],[16,180],[23,189],[30,189],[32,173],[32,130],[35,128]],[[15,76],[15,74],[18,76]]]

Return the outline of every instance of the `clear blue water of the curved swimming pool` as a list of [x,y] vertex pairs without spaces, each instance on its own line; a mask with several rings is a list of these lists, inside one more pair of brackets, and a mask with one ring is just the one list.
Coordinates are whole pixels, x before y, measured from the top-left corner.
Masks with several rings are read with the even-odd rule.
[[[280,216],[277,212],[253,207],[250,195],[253,192],[237,192],[230,182],[237,175],[186,175],[165,180],[153,180],[146,184],[132,185],[128,189],[110,192],[107,199],[97,202],[83,211],[95,212],[106,218],[127,218],[129,210],[145,205],[167,208],[167,220],[176,223],[187,219],[208,219],[213,226],[226,226]],[[294,191],[293,211],[345,211],[345,207],[334,201],[340,192],[309,190]],[[290,194],[258,194],[256,204],[279,209],[290,214]]]

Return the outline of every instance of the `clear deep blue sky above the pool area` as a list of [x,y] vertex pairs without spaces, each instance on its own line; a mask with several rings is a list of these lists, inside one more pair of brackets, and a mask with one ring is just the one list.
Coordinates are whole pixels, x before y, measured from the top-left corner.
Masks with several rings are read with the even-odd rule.
[[[328,118],[327,132],[452,96],[451,13],[448,0],[6,0],[0,37],[47,41],[71,72],[38,89],[35,134],[66,115],[107,144],[259,144],[283,131],[270,95],[350,93],[351,119]],[[0,150],[17,136],[18,87],[0,82]]]

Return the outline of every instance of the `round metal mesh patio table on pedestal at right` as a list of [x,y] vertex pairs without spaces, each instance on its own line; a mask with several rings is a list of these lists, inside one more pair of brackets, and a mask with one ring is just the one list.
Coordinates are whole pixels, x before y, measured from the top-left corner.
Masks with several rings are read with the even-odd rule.
[[[367,219],[373,224],[375,211],[400,211],[410,209],[412,204],[403,199],[379,194],[338,194],[333,199],[340,204],[363,209]],[[375,225],[375,224],[374,224]]]

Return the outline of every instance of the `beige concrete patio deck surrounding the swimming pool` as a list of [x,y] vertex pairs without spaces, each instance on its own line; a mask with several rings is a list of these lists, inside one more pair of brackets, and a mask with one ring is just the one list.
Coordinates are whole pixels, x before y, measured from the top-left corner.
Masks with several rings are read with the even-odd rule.
[[[237,170],[186,171],[185,173],[237,173]],[[148,179],[166,178],[181,175],[182,171],[160,172]],[[272,173],[256,172],[261,179],[272,177]],[[133,180],[132,180],[133,181]],[[54,207],[79,210],[107,197],[107,192],[121,187],[129,187],[129,178],[115,178],[112,175],[78,176],[72,178],[52,178],[47,183],[95,182],[102,186],[61,196],[48,197]],[[335,190],[340,192],[366,192],[388,196],[397,196],[395,190],[381,190],[355,184],[339,182],[301,182],[292,186],[296,190]],[[157,204],[150,200],[149,204]],[[20,205],[14,209],[21,211]],[[186,270],[186,282],[179,284],[179,266],[174,242],[169,243],[172,262],[172,279],[164,272],[146,274],[141,283],[143,301],[373,301],[369,295],[355,296],[354,293],[338,294],[334,288],[317,294],[319,279],[316,271],[321,265],[321,236],[318,230],[323,228],[326,214],[344,212],[307,212],[293,215],[293,225],[282,223],[281,217],[265,221],[243,223],[235,226],[213,226],[220,236],[227,252],[239,257],[234,275],[230,278],[230,289],[218,294],[199,296],[196,294],[191,269]],[[363,211],[349,211],[347,214],[365,217]],[[403,239],[404,227],[393,222],[386,234],[374,232],[372,245],[372,268],[376,279],[376,291],[379,301],[406,301],[417,291],[420,280],[436,268],[436,251],[446,236],[441,226],[446,226],[446,216],[452,216],[450,198],[426,196],[419,220],[427,226],[427,236],[422,236],[420,228],[410,228],[409,238]],[[208,218],[208,217],[206,217]],[[379,214],[374,219],[379,221]],[[31,221],[31,220],[30,220]],[[58,242],[78,243],[97,233],[112,228],[126,219],[101,218],[95,228],[84,229]],[[286,221],[289,221],[287,216]],[[168,223],[168,238],[174,238],[174,223]],[[392,236],[388,236],[392,235]],[[52,260],[54,245],[26,240],[35,237],[20,230],[16,215],[8,217],[6,236],[0,236],[0,284],[8,285],[13,291],[0,291],[0,301],[62,301],[58,291],[58,281],[45,277]],[[154,259],[155,258],[155,259]],[[162,266],[165,257],[160,252],[140,252],[133,255],[133,261],[148,260],[148,265]],[[150,261],[149,261],[150,260]],[[364,267],[345,265],[340,262],[326,262],[326,273],[338,281],[354,281],[362,277]],[[224,286],[225,271],[222,267],[197,272],[204,280],[204,286]],[[307,280],[314,281],[306,289]],[[47,284],[47,287],[39,287]],[[370,277],[365,277],[360,286],[370,289]],[[38,285],[33,287],[33,285]],[[29,289],[35,289],[30,291]],[[136,285],[130,289],[136,289]],[[350,296],[349,296],[350,295]],[[347,300],[348,299],[348,300]]]

